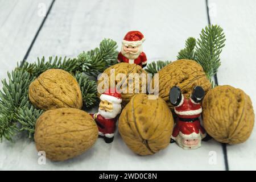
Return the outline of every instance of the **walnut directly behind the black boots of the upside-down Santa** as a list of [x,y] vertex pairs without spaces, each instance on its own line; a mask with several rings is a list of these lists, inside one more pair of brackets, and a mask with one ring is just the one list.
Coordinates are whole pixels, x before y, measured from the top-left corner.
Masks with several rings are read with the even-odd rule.
[[[172,86],[179,86],[184,97],[189,97],[196,85],[201,86],[207,93],[211,84],[200,64],[193,60],[177,60],[160,69],[159,96],[167,102],[168,106],[173,109],[169,102],[169,92]],[[154,82],[154,78],[152,79]]]

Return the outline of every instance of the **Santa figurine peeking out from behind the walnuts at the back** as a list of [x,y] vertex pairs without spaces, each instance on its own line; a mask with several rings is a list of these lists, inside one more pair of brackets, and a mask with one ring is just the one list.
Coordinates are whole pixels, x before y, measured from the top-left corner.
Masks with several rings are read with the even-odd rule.
[[138,64],[142,68],[147,65],[146,54],[142,51],[144,35],[139,31],[130,31],[122,41],[121,52],[118,53],[118,63]]

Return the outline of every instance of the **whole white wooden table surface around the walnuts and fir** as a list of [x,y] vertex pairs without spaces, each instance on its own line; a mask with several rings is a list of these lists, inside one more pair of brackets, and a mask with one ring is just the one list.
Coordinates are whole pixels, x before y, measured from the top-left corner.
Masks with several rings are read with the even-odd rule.
[[[185,39],[198,38],[210,21],[224,28],[227,39],[217,75],[219,84],[244,90],[255,106],[255,5],[253,0],[0,0],[0,78],[5,78],[17,61],[76,57],[97,47],[104,38],[117,41],[120,47],[130,30],[140,30],[146,36],[143,49],[149,61],[175,60]],[[41,14],[44,7],[47,16]],[[34,142],[20,137],[16,143],[0,143],[0,170],[255,170],[254,137],[255,129],[245,143],[227,146],[228,164],[222,145],[214,140],[191,151],[171,144],[158,154],[142,157],[131,152],[117,134],[112,144],[99,139],[75,159],[47,160],[45,165],[38,164]]]

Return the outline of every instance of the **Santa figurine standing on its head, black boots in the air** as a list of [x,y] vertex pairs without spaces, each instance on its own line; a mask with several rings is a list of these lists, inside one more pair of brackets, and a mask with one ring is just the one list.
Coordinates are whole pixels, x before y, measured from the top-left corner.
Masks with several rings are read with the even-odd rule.
[[169,99],[177,114],[171,143],[176,142],[178,146],[186,150],[201,146],[201,140],[206,136],[199,120],[202,112],[200,102],[203,98],[204,90],[201,86],[195,86],[189,99],[184,98],[179,87],[171,88]]

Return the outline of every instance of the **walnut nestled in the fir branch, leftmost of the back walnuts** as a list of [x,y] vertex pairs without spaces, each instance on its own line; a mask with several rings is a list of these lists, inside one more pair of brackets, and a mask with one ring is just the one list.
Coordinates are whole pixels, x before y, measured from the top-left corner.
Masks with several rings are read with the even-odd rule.
[[62,69],[48,69],[31,82],[28,97],[39,109],[81,109],[82,93],[76,79]]

